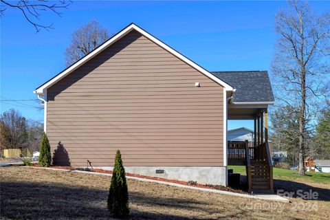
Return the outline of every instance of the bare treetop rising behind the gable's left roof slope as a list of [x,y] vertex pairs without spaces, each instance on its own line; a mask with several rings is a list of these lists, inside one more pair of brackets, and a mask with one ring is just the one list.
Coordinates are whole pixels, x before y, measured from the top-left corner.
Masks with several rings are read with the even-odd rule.
[[69,67],[107,39],[109,39],[108,30],[102,28],[98,21],[87,23],[72,34],[72,43],[65,51],[65,64]]

